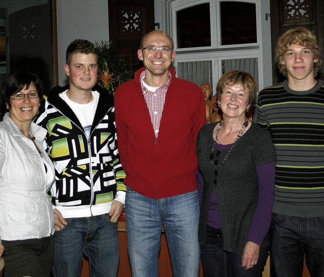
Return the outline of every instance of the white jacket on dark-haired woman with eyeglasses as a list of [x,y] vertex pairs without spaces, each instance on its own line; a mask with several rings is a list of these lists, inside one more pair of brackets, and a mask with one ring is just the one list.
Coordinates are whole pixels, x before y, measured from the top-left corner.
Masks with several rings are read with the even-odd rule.
[[49,237],[54,233],[54,212],[48,195],[54,181],[54,166],[43,149],[47,131],[31,123],[35,143],[22,134],[6,113],[0,122],[0,236],[2,240]]

